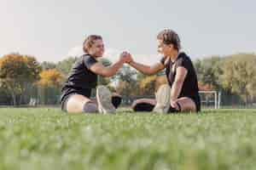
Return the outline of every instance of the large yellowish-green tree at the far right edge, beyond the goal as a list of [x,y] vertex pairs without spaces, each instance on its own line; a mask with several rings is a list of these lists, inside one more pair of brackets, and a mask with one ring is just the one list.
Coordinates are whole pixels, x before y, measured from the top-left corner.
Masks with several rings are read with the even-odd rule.
[[256,55],[234,54],[224,61],[222,84],[247,104],[256,94]]

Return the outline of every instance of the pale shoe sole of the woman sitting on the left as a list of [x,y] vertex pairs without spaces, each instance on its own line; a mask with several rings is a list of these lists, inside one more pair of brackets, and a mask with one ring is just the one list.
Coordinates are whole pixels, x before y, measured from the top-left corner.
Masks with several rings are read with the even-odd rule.
[[112,104],[112,94],[105,86],[96,88],[96,99],[100,113],[115,113],[115,108]]

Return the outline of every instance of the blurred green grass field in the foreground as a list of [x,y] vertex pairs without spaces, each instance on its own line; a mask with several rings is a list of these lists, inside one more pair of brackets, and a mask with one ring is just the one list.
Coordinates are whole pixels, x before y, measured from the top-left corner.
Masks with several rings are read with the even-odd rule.
[[256,169],[256,110],[0,109],[0,169]]

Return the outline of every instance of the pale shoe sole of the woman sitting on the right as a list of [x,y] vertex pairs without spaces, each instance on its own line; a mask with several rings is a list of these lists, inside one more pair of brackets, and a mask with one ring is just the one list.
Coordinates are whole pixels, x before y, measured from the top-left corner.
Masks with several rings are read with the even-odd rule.
[[161,85],[155,94],[154,112],[167,113],[170,108],[171,88],[168,84]]

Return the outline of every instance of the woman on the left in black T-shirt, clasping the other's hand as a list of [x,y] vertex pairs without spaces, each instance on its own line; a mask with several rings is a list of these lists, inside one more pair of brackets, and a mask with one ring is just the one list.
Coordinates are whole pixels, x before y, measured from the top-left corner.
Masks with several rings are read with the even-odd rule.
[[[97,59],[104,53],[104,43],[98,35],[87,37],[83,49],[85,54],[76,60],[61,89],[61,110],[68,113],[114,112],[121,98],[118,95],[109,97],[110,92],[105,87],[96,88],[97,77],[112,77],[130,58],[125,57],[126,52],[123,52],[113,65],[102,65]],[[100,92],[96,96],[97,102],[90,99],[93,88]]]

